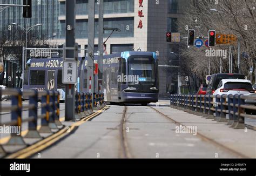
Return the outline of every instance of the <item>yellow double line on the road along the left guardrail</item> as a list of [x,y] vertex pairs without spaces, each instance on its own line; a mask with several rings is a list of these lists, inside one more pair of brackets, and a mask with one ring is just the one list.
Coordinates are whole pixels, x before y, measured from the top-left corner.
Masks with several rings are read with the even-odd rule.
[[84,119],[77,121],[76,123],[72,124],[71,126],[66,126],[65,128],[63,128],[62,130],[58,131],[55,134],[52,134],[52,136],[45,138],[41,141],[39,141],[36,144],[33,144],[29,147],[26,147],[16,153],[12,153],[10,155],[8,155],[6,158],[19,158],[19,159],[23,159],[23,158],[28,158],[31,155],[44,150],[46,147],[51,146],[52,144],[54,144],[56,141],[58,141],[59,139],[65,137],[66,135],[68,135],[70,132],[72,132],[76,126],[82,125],[84,124],[86,121],[96,117],[98,114],[102,113],[104,110],[109,109],[110,106],[106,106],[104,107],[102,110],[99,110],[93,114],[91,114],[90,116],[85,117]]

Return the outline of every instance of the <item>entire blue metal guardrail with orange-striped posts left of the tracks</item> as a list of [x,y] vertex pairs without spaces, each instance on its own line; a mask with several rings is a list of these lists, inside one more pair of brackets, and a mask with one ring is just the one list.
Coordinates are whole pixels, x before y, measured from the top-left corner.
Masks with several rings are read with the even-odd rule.
[[[59,120],[60,110],[58,91],[21,91],[19,89],[0,89],[0,97],[2,97],[2,95],[9,95],[11,97],[10,105],[4,105],[0,101],[1,114],[3,111],[7,112],[7,114],[11,114],[11,120],[3,123],[2,117],[0,117],[0,126],[15,126],[22,131],[22,124],[28,123],[28,132],[24,138],[42,138],[40,133],[53,133],[52,129],[58,130],[59,126],[63,127]],[[94,95],[95,96],[92,97],[91,93],[76,93],[76,118],[83,118],[93,113],[92,98],[94,98],[94,102],[98,109],[104,106],[104,94],[94,93]],[[22,97],[28,97],[29,103],[23,103]],[[38,113],[39,99],[41,99],[41,114]],[[28,118],[22,117],[23,110],[28,110]],[[39,130],[37,129],[38,119],[41,119],[41,126],[39,126]],[[6,153],[2,145],[3,144],[0,144],[0,154]],[[21,133],[11,133],[9,141],[4,145],[26,146],[26,143],[23,140]]]

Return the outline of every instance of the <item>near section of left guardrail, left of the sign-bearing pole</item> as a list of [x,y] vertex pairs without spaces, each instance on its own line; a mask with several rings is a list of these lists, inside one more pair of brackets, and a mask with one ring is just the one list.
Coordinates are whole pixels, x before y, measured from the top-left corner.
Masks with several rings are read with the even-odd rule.
[[[9,141],[4,145],[25,145],[24,138],[42,138],[41,132],[52,133],[51,129],[58,129],[62,125],[59,121],[59,92],[57,91],[35,91],[19,89],[0,89],[2,95],[11,96],[11,104],[3,104],[0,101],[0,112],[11,113],[10,121],[6,121],[1,116],[0,126],[7,126],[14,130],[10,134]],[[25,104],[22,97],[28,97],[29,103]],[[41,99],[41,114],[38,113],[38,100]],[[22,116],[22,110],[28,110],[29,117]],[[41,119],[41,126],[38,126],[37,120]],[[4,121],[4,122],[3,122]],[[24,137],[21,135],[23,123],[28,123],[27,133]],[[38,130],[39,127],[39,130]],[[19,133],[18,133],[19,131]],[[0,154],[5,153],[0,144]]]

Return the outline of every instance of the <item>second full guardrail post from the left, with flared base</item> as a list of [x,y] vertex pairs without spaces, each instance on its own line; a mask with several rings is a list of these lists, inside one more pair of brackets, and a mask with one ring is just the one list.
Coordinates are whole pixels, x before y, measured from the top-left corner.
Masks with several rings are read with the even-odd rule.
[[34,94],[29,97],[29,104],[34,105],[33,109],[29,109],[29,118],[33,118],[32,121],[29,121],[29,131],[26,133],[24,138],[42,138],[39,132],[37,131],[37,101],[38,93],[33,90]]

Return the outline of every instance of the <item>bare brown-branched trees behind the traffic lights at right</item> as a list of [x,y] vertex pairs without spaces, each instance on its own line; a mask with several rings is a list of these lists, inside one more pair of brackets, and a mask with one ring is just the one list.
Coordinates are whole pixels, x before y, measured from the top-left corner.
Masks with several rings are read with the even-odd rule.
[[[197,37],[208,36],[208,30],[215,30],[220,34],[233,34],[241,44],[241,52],[247,52],[250,58],[241,58],[240,72],[249,76],[250,67],[255,67],[255,0],[201,0],[191,3],[186,10],[185,18],[180,21],[179,29],[182,35],[187,35],[187,29],[196,29]],[[211,10],[210,10],[211,9]],[[197,23],[195,20],[197,20]],[[201,25],[199,26],[199,21]],[[199,36],[201,28],[201,36]],[[184,45],[186,42],[184,41]],[[230,45],[215,45],[213,49],[228,50]],[[231,45],[234,58],[233,71],[238,72],[238,42]],[[223,72],[229,71],[228,58],[206,57],[206,48],[183,48],[181,55],[185,58],[183,67],[185,72],[196,74],[200,82],[208,75],[210,60],[211,73],[220,71],[220,60]],[[254,69],[253,69],[254,70]],[[254,74],[253,74],[254,75]],[[255,81],[255,78],[253,79]]]

